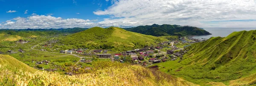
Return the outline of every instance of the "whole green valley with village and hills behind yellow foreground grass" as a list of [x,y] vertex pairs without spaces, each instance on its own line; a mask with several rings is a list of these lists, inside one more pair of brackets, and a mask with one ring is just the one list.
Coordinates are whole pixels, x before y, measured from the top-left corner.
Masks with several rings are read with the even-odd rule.
[[[0,42],[0,51],[6,54],[2,57],[17,60],[2,61],[1,65],[20,61],[29,70],[78,76],[114,63],[161,71],[163,75],[177,79],[179,84],[186,82],[182,83],[184,86],[254,84],[249,76],[255,77],[255,31],[234,32],[227,37],[211,37],[209,40],[190,36],[154,37],[117,27],[35,36],[18,32],[14,38],[7,33],[2,33],[2,39],[8,37],[9,40]],[[241,63],[243,65],[237,66]]]

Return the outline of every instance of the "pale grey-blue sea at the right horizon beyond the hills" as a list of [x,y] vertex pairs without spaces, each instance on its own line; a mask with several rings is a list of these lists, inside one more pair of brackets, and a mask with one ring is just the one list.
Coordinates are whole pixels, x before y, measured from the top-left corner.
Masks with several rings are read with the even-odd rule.
[[211,37],[226,37],[233,32],[256,30],[256,28],[204,28],[211,35],[193,36],[195,39],[209,39]]

